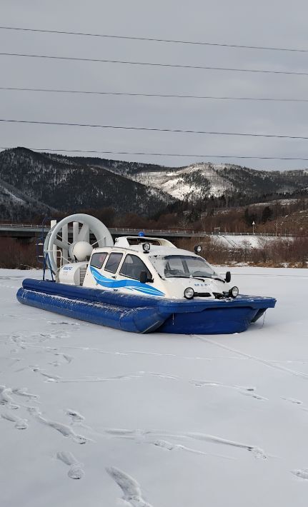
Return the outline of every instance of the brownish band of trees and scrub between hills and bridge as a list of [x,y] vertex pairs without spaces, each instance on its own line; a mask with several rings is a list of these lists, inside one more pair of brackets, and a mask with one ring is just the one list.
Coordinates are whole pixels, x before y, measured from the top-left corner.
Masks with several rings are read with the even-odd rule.
[[[299,230],[292,216],[296,213],[308,210],[308,199],[284,199],[265,204],[253,204],[248,207],[228,209],[225,207],[208,206],[206,211],[198,209],[192,204],[187,204],[181,209],[168,206],[164,212],[150,217],[140,216],[135,213],[124,215],[116,214],[113,208],[84,209],[81,213],[96,216],[108,227],[128,227],[132,229],[189,229],[192,231],[217,231],[223,232],[252,232],[254,222],[257,232],[271,234],[308,235],[308,218],[304,221],[302,230]],[[56,214],[54,218],[63,218],[66,214]],[[303,215],[304,219],[305,216]],[[37,217],[37,221],[41,216]]]

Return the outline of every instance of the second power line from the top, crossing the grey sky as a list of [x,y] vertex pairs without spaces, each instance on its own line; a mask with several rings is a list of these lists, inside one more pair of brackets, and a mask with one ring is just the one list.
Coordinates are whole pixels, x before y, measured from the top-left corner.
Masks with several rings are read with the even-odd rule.
[[292,76],[308,76],[308,72],[296,71],[274,71],[265,69],[237,69],[230,67],[213,67],[203,65],[185,65],[185,64],[158,64],[149,61],[131,61],[131,60],[109,60],[99,58],[81,58],[78,56],[53,56],[46,54],[24,54],[24,53],[0,53],[0,56],[20,56],[21,58],[39,58],[49,60],[63,60],[63,61],[91,61],[99,64],[126,64],[126,65],[140,65],[151,67],[165,67],[172,69],[199,69],[206,71],[224,71],[224,72],[252,72],[254,74],[284,74]]

